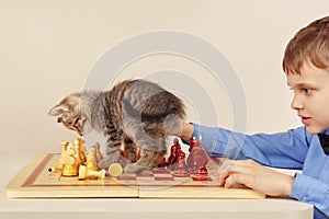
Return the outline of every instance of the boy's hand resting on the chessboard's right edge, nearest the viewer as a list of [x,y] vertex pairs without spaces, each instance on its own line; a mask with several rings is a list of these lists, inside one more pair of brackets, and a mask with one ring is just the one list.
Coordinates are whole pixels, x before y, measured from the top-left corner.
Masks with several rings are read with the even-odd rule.
[[219,185],[242,184],[271,196],[291,195],[295,177],[279,173],[252,160],[223,160]]

